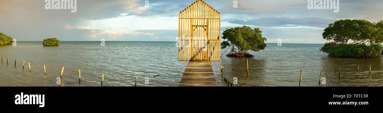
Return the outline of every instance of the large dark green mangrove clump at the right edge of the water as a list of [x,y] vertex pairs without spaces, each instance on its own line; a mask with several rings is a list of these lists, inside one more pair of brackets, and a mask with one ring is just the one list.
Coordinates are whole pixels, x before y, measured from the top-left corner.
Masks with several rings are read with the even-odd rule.
[[383,47],[383,21],[338,20],[324,29],[321,48],[330,57],[378,57]]

